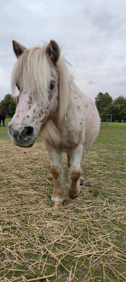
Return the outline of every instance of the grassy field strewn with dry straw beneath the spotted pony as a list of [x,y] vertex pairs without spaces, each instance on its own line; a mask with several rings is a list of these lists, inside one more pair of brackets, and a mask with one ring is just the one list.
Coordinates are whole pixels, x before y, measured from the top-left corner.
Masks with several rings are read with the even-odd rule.
[[125,136],[118,124],[100,130],[75,200],[63,154],[64,207],[53,210],[44,143],[16,147],[0,127],[0,281],[126,281]]

